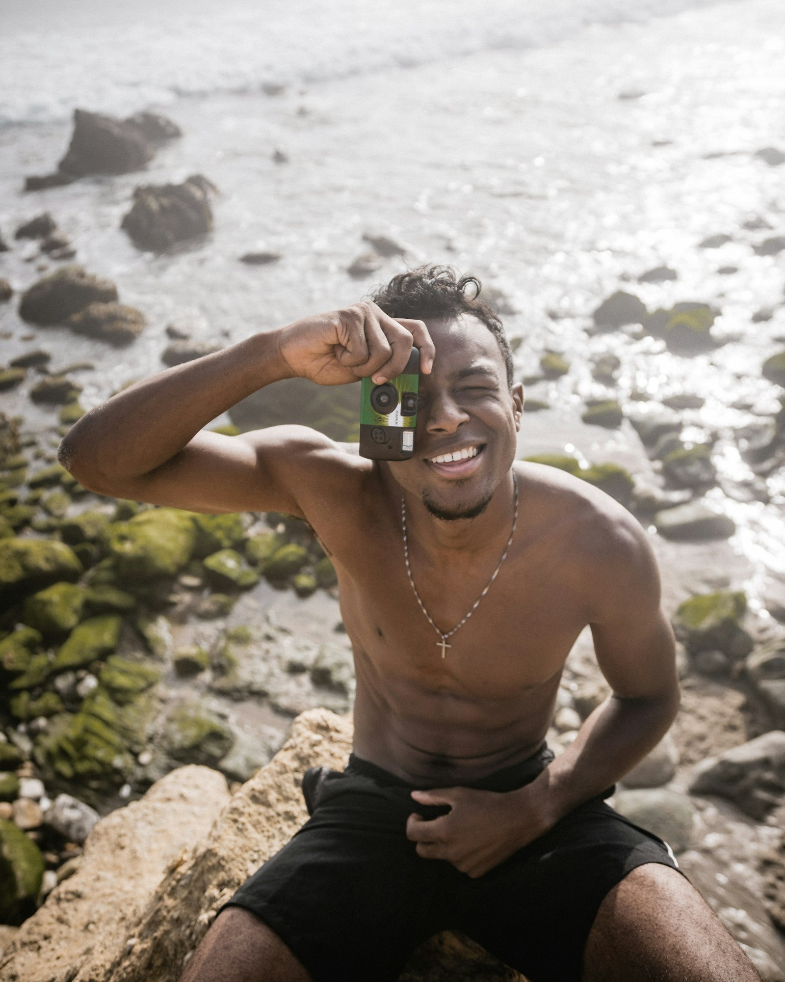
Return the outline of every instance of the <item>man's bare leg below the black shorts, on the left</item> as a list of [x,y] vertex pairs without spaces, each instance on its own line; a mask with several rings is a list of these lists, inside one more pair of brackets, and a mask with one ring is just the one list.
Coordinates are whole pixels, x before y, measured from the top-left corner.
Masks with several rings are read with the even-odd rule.
[[312,980],[264,921],[243,907],[227,907],[188,959],[180,982]]

